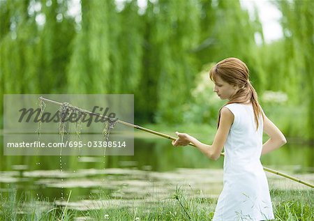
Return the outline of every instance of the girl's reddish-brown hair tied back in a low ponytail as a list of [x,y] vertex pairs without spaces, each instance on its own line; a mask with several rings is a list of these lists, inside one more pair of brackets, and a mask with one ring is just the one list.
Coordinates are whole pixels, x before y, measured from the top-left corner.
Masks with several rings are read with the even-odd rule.
[[[254,118],[257,125],[257,130],[258,116],[262,114],[262,109],[257,100],[257,93],[248,79],[249,75],[250,71],[248,70],[246,64],[237,58],[227,58],[223,61],[219,61],[216,66],[212,67],[209,71],[209,77],[211,81],[216,82],[216,78],[219,76],[221,79],[223,79],[224,82],[239,87],[237,93],[235,93],[234,96],[230,98],[230,101],[225,105],[232,103],[241,104],[251,102],[254,110]],[[223,107],[225,107],[225,105]],[[223,107],[221,107],[219,110],[218,127],[220,121],[220,112]],[[262,117],[264,118],[263,115]]]

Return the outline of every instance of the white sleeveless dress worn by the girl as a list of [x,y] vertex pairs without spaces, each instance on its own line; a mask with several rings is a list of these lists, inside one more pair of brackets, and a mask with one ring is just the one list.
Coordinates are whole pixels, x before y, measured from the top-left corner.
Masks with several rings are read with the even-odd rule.
[[225,142],[223,191],[214,221],[273,220],[267,178],[260,162],[262,116],[256,130],[252,105],[226,105],[234,123]]

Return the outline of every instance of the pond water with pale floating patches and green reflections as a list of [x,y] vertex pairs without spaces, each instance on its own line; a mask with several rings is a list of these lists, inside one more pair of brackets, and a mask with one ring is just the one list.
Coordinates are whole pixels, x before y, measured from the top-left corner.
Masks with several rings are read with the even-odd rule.
[[[187,195],[216,198],[223,188],[223,158],[214,162],[193,147],[174,148],[165,139],[135,139],[133,156],[5,156],[3,146],[1,151],[1,192],[27,192],[61,206],[70,196],[68,208],[82,211],[104,204],[154,203],[178,187]],[[314,183],[313,146],[285,145],[263,156],[262,163]],[[266,173],[270,188],[309,189]],[[110,203],[100,202],[98,195]]]

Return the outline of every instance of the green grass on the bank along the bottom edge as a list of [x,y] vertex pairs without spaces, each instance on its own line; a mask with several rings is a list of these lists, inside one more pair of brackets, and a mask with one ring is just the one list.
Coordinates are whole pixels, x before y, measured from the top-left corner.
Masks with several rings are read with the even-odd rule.
[[[276,220],[314,220],[314,190],[271,190]],[[99,197],[98,199],[108,199]],[[34,200],[27,196],[17,199],[15,192],[0,195],[0,220],[211,220],[216,200],[190,197],[177,188],[172,195],[142,206],[110,206],[110,208],[75,211],[54,206],[47,199]],[[67,199],[70,201],[70,199]],[[136,199],[134,199],[136,201]],[[137,205],[137,206],[136,206]]]

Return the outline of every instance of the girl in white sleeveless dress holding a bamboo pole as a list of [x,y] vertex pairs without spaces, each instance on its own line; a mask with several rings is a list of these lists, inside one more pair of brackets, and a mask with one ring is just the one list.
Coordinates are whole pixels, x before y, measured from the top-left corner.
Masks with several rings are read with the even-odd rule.
[[[192,143],[212,160],[217,160],[225,147],[223,192],[214,221],[274,219],[260,155],[282,146],[286,139],[262,111],[248,75],[246,64],[236,58],[224,59],[211,68],[214,92],[220,99],[229,100],[220,109],[213,144],[203,144],[180,132],[172,142],[174,146]],[[270,137],[264,144],[263,131]]]

